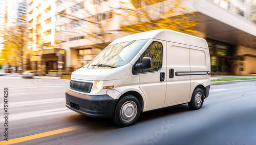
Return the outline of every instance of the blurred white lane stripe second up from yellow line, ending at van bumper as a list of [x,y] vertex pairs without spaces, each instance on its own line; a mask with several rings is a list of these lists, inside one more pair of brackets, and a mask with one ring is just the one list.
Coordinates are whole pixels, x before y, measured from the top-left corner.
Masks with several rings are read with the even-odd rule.
[[[54,98],[54,99],[44,99],[44,100],[33,100],[33,101],[20,101],[20,102],[9,102],[9,105],[13,108],[29,106],[29,105],[39,105],[39,104],[47,104],[47,103],[57,103],[57,102],[65,102],[65,98]],[[65,102],[66,103],[66,102]],[[0,104],[3,106],[4,104]]]

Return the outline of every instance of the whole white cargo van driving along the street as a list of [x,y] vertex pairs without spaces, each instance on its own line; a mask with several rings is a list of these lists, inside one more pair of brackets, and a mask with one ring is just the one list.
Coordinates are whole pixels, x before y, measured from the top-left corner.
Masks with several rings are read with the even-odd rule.
[[207,42],[161,29],[119,38],[74,71],[66,106],[124,127],[148,110],[184,103],[200,109],[209,89]]

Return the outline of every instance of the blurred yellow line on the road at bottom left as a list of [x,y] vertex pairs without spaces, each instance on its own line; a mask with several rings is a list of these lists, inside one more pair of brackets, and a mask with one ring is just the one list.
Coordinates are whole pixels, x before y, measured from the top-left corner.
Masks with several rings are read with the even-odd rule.
[[68,127],[68,128],[48,131],[48,132],[44,132],[44,133],[29,135],[29,136],[25,136],[25,137],[10,139],[8,141],[6,141],[6,140],[5,141],[1,141],[0,144],[1,145],[5,145],[5,144],[19,143],[19,142],[24,142],[24,141],[36,139],[36,138],[41,138],[41,137],[46,137],[46,136],[50,136],[50,135],[54,135],[54,134],[59,134],[59,133],[63,133],[63,132],[73,131],[73,130],[76,130],[76,129],[77,129],[76,126],[75,127]]

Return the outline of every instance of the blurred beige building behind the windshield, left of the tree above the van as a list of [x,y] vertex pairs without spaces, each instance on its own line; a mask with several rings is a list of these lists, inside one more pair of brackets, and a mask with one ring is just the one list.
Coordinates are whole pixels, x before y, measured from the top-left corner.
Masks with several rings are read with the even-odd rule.
[[[113,40],[125,36],[118,32],[119,2],[57,1],[55,39],[66,50],[66,69],[74,71],[90,63]],[[127,35],[127,34],[126,34]]]

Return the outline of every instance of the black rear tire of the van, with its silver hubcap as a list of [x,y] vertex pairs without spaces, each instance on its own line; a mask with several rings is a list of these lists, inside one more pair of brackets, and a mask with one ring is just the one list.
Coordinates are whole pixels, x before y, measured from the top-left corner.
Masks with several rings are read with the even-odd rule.
[[190,102],[188,103],[188,106],[192,110],[198,110],[202,107],[204,103],[204,92],[201,88],[197,88],[191,97]]

